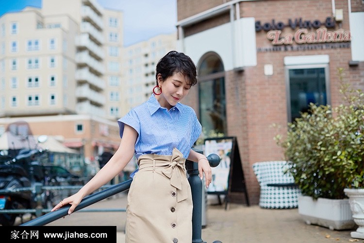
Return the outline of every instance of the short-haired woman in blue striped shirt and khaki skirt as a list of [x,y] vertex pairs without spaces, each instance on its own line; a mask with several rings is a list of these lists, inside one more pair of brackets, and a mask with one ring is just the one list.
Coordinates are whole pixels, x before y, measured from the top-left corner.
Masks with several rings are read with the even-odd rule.
[[211,182],[206,156],[191,148],[201,133],[195,111],[180,102],[197,84],[196,66],[181,52],[168,52],[156,66],[156,86],[149,100],[119,119],[121,142],[108,163],[74,195],[52,211],[71,204],[116,176],[135,155],[139,168],[132,173],[128,192],[126,243],[190,243],[192,196],[185,159],[198,162],[199,176]]

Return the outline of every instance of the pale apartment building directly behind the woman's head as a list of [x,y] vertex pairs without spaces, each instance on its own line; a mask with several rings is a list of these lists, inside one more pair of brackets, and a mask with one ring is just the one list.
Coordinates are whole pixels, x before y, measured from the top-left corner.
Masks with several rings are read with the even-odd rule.
[[169,51],[176,50],[177,33],[157,35],[123,49],[123,97],[121,115],[147,101],[156,85],[155,67]]

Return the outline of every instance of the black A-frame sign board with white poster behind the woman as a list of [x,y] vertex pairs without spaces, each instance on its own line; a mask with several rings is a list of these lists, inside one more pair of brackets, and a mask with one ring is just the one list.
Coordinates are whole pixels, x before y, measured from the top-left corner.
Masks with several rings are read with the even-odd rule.
[[236,137],[205,139],[204,143],[205,155],[216,154],[221,159],[218,166],[211,168],[212,182],[207,193],[217,195],[220,204],[220,195],[225,195],[226,209],[230,202],[231,192],[242,192],[245,194],[246,203],[249,206]]

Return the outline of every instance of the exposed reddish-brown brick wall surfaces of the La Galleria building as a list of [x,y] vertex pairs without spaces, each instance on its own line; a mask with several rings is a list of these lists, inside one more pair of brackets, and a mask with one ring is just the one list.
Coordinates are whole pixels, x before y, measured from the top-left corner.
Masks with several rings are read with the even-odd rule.
[[[219,1],[202,0],[200,6],[194,5],[194,1],[178,0],[178,19],[195,15],[208,7],[214,7]],[[336,9],[343,9],[344,20],[337,24],[336,30],[342,28],[349,30],[347,0],[335,0]],[[351,0],[352,8],[363,11],[361,0]],[[240,2],[241,17],[254,17],[262,23],[288,22],[288,18],[299,18],[304,20],[318,19],[324,22],[332,12],[331,0],[265,0]],[[213,20],[211,20],[213,21]],[[204,26],[212,25],[205,21]],[[198,24],[196,25],[198,26]],[[193,26],[190,27],[193,29]],[[201,25],[191,33],[198,33]],[[294,33],[286,27],[282,34]],[[332,31],[332,29],[329,29]],[[314,30],[310,30],[314,31]],[[208,41],[208,40],[206,40]],[[292,46],[297,46],[293,44]],[[256,33],[257,48],[271,48],[271,40],[266,37],[265,31]],[[364,63],[349,67],[351,60],[351,49],[345,48],[302,50],[302,51],[278,51],[258,52],[257,65],[246,67],[242,72],[227,70],[225,73],[226,102],[228,135],[237,137],[244,176],[246,179],[249,200],[251,204],[259,201],[259,185],[252,171],[252,164],[259,161],[282,160],[283,154],[280,147],[276,145],[274,136],[278,133],[284,134],[287,127],[287,102],[285,69],[283,59],[286,56],[301,55],[329,55],[331,104],[336,106],[342,102],[339,92],[338,68],[344,68],[344,78],[353,87],[364,89]],[[264,65],[273,65],[273,75],[265,76]],[[198,112],[198,88],[195,87],[189,94],[188,104]],[[276,123],[281,126],[277,129],[272,125]]]

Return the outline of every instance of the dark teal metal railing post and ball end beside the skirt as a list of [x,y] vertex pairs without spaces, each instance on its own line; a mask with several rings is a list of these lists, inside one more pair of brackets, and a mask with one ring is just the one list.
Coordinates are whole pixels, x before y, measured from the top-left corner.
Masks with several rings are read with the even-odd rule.
[[[202,151],[196,150],[202,154]],[[207,157],[211,167],[216,167],[220,163],[220,157],[211,154]],[[201,239],[202,233],[202,181],[199,178],[199,165],[190,160],[186,160],[188,182],[192,192],[192,243],[206,243]]]

